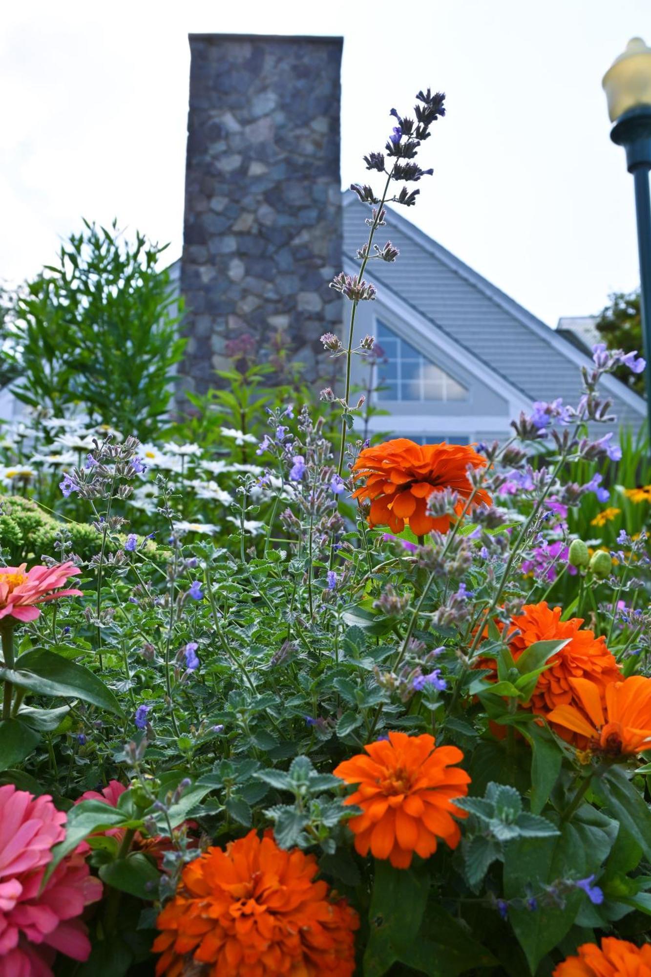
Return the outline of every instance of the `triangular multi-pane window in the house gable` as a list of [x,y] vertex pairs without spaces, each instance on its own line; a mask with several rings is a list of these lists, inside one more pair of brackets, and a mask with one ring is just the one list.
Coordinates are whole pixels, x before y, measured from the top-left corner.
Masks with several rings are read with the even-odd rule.
[[465,401],[468,391],[454,377],[427,360],[383,322],[377,322],[377,345],[385,362],[377,364],[378,401]]

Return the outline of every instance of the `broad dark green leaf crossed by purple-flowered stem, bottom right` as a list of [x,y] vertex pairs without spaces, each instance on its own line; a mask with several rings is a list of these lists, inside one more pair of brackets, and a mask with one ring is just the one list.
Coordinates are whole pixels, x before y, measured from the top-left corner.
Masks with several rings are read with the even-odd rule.
[[[522,899],[527,886],[539,890],[557,878],[583,878],[586,857],[581,838],[572,825],[565,825],[554,838],[517,838],[504,847],[504,897]],[[527,956],[532,974],[542,957],[562,940],[579,912],[584,893],[571,891],[561,909],[541,905],[536,913],[527,909],[509,910],[509,919],[520,946]]]

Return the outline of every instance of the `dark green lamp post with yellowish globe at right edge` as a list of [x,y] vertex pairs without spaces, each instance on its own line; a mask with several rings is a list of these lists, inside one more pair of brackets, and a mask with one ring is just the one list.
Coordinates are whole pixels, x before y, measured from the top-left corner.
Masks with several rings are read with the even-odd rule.
[[633,37],[624,54],[603,76],[608,114],[614,122],[610,138],[627,150],[627,167],[635,185],[640,310],[646,369],[646,414],[651,446],[651,48]]

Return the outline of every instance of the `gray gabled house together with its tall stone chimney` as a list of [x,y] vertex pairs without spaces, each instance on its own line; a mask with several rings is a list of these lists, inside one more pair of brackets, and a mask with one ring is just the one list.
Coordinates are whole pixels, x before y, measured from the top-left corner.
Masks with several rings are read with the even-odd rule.
[[[264,351],[282,329],[317,380],[322,332],[345,305],[327,283],[355,274],[365,207],[340,192],[342,40],[191,35],[184,250],[173,267],[190,337],[183,382],[205,389],[226,343],[248,333]],[[395,264],[372,262],[374,302],[360,304],[357,338],[384,352],[374,369],[371,430],[456,443],[503,437],[534,401],[576,401],[585,349],[532,316],[391,209]],[[367,375],[355,358],[355,379]],[[639,427],[641,398],[604,389],[621,422]]]

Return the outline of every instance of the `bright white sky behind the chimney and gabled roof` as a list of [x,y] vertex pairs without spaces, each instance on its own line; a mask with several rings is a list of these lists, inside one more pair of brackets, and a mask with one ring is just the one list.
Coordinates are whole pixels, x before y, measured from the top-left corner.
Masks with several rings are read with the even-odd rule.
[[[388,111],[448,94],[410,218],[549,324],[638,282],[632,179],[601,77],[651,0],[22,0],[0,14],[0,278],[80,217],[181,252],[189,32],[343,34],[341,176]],[[245,93],[242,93],[245,97]],[[363,228],[361,228],[361,233]],[[390,228],[387,228],[390,236]]]

